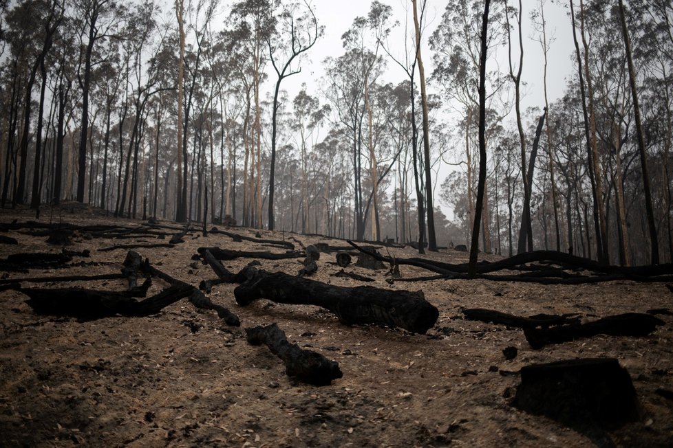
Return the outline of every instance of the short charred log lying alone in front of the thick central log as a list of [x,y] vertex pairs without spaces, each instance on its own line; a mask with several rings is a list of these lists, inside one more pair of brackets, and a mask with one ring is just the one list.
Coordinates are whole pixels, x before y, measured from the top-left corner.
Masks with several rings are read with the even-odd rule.
[[343,377],[339,363],[330,361],[323,355],[290,344],[276,324],[246,328],[249,344],[266,344],[269,350],[283,360],[288,377],[294,377],[303,383],[330,385],[332,380]]

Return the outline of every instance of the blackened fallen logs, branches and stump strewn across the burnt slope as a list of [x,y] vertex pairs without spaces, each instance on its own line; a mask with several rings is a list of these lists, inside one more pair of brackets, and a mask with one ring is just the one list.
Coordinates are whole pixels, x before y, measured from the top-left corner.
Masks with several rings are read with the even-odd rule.
[[[438,309],[425,300],[423,291],[388,290],[370,286],[339,287],[312,280],[319,269],[321,253],[334,254],[336,262],[325,261],[324,265],[336,265],[341,268],[330,276],[347,277],[357,282],[372,282],[373,278],[350,271],[352,265],[365,269],[387,269],[387,282],[426,282],[429,280],[467,279],[467,263],[450,264],[437,262],[429,258],[397,258],[382,255],[378,249],[386,245],[381,243],[354,243],[345,240],[345,244],[334,246],[326,243],[303,245],[297,238],[270,240],[257,236],[250,237],[213,227],[209,232],[223,235],[233,241],[249,241],[262,247],[284,249],[284,252],[235,251],[222,247],[200,247],[192,258],[195,262],[209,265],[216,278],[203,280],[198,287],[173,278],[158,269],[147,258],[142,258],[135,249],[164,247],[172,249],[184,242],[185,238],[198,238],[194,234],[197,229],[191,225],[159,223],[150,220],[147,223],[127,227],[123,225],[71,225],[48,224],[36,221],[19,223],[0,223],[0,245],[16,245],[17,238],[3,235],[15,232],[19,235],[47,237],[47,243],[60,246],[61,251],[53,253],[21,253],[12,254],[0,259],[0,291],[14,289],[28,296],[26,302],[35,313],[41,315],[58,315],[75,317],[78,320],[94,320],[103,317],[121,315],[140,317],[156,315],[166,306],[187,298],[199,309],[210,309],[229,326],[240,326],[239,317],[226,307],[213,303],[207,296],[217,284],[237,284],[234,289],[235,301],[239,306],[248,306],[259,299],[266,299],[279,304],[299,304],[320,306],[333,313],[345,325],[379,324],[392,328],[401,328],[412,333],[425,334],[433,328],[438,320]],[[30,269],[67,269],[87,265],[116,265],[118,263],[89,261],[90,251],[70,251],[72,238],[85,240],[108,238],[124,240],[139,237],[150,237],[158,240],[169,240],[167,243],[130,243],[114,244],[98,249],[98,251],[127,250],[127,255],[117,272],[95,276],[16,276],[28,274]],[[295,243],[292,243],[294,240]],[[297,247],[299,246],[299,247]],[[388,242],[387,246],[399,247]],[[1,247],[1,246],[0,246]],[[74,261],[78,259],[87,259]],[[251,258],[239,272],[231,272],[221,260],[235,258]],[[259,260],[297,259],[301,269],[297,273],[270,272],[261,269]],[[353,258],[357,258],[353,264]],[[409,265],[431,272],[431,276],[404,278],[400,275],[400,266]],[[504,271],[504,272],[502,272]],[[601,265],[570,254],[557,251],[533,251],[495,262],[482,261],[478,265],[476,278],[506,282],[536,282],[540,284],[587,284],[610,280],[632,280],[636,282],[673,282],[673,265],[656,265],[647,267],[617,267]],[[12,275],[10,276],[10,273]],[[10,278],[11,277],[11,278]],[[168,286],[147,297],[149,289],[160,279]],[[67,283],[75,281],[127,280],[124,291],[107,291],[103,289],[84,289],[81,287],[25,287],[24,284],[49,282]],[[667,285],[673,291],[673,287]],[[582,322],[579,314],[573,315],[532,315],[516,316],[502,311],[489,309],[463,309],[467,320],[491,322],[513,328],[521,328],[528,344],[532,348],[541,349],[548,344],[562,344],[594,335],[644,336],[656,330],[665,322],[656,315],[671,314],[667,309],[649,310],[647,313],[623,313],[606,316],[588,322]],[[312,385],[329,385],[334,379],[342,377],[339,364],[330,361],[323,355],[299,348],[290,344],[284,331],[277,324],[245,328],[249,344],[266,344],[271,352],[277,355],[286,366],[289,377]],[[517,350],[507,347],[503,350],[508,359],[516,357]],[[559,361],[550,365],[533,365],[522,368],[520,374],[522,384],[512,404],[533,414],[544,414],[562,423],[586,430],[596,440],[603,437],[603,421],[594,408],[605,405],[606,396],[587,394],[586,390],[595,390],[595,383],[601,378],[615,377],[619,379],[619,388],[627,405],[623,415],[616,416],[614,421],[632,421],[637,418],[637,403],[632,392],[628,374],[621,373],[619,363],[615,359],[579,359]],[[571,378],[572,384],[566,390],[567,396],[557,396],[557,390],[550,384],[558,378]],[[577,378],[577,379],[576,379]],[[617,380],[615,380],[617,381]],[[566,393],[564,392],[564,393]],[[669,392],[669,391],[665,391]],[[554,399],[550,399],[552,397]],[[608,394],[609,396],[609,394]],[[578,398],[579,397],[579,398]],[[566,403],[562,409],[548,403]],[[634,404],[635,403],[635,404]],[[582,418],[575,418],[577,414]],[[568,414],[573,410],[575,414]],[[584,412],[584,414],[582,414]],[[588,414],[587,414],[588,413]],[[579,415],[577,414],[577,415]],[[608,428],[610,429],[610,428]]]

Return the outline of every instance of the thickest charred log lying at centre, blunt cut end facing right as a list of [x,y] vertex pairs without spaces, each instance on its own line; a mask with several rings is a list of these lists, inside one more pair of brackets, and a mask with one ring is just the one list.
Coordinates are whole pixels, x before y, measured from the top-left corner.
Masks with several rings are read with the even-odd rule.
[[343,324],[384,324],[425,333],[439,311],[423,291],[390,291],[374,287],[336,287],[286,273],[248,269],[248,281],[234,289],[238,304],[265,298],[285,304],[317,305],[336,314]]

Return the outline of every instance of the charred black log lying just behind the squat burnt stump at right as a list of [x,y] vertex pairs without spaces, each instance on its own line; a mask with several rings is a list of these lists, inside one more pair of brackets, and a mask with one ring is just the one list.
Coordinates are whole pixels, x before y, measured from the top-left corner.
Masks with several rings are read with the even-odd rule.
[[562,344],[574,341],[582,337],[595,335],[610,336],[647,336],[656,330],[657,325],[665,322],[650,314],[624,313],[587,322],[586,324],[573,324],[553,326],[551,328],[524,328],[524,335],[528,344],[533,348],[542,348],[547,344]]

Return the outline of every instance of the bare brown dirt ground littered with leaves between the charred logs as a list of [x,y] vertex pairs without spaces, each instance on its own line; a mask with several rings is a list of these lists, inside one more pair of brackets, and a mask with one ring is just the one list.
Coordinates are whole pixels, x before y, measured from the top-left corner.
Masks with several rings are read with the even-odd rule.
[[[72,212],[71,212],[72,211]],[[28,221],[28,210],[0,212],[0,223]],[[64,206],[41,222],[119,223],[95,210]],[[250,229],[233,232],[254,236]],[[173,248],[138,249],[167,273],[198,285],[215,278],[193,263],[197,247],[271,250],[224,235],[189,234]],[[7,232],[19,245],[0,245],[2,256],[58,252],[45,237]],[[263,238],[290,236],[304,244],[343,241],[261,232]],[[74,238],[71,250],[89,249],[98,266],[34,269],[9,278],[118,273],[125,250],[101,247],[158,242]],[[162,241],[164,242],[164,241]],[[411,248],[390,249],[400,257]],[[427,255],[465,262],[467,254]],[[496,257],[493,256],[493,259]],[[250,260],[224,262],[237,272]],[[268,271],[297,273],[297,260],[261,260]],[[343,286],[362,284],[330,276],[339,271],[334,254],[321,254],[312,278]],[[385,271],[348,271],[376,279],[387,289],[422,289],[440,315],[426,335],[381,326],[345,326],[316,306],[238,306],[235,285],[221,284],[209,295],[236,313],[242,326],[229,327],[213,311],[181,300],[151,317],[109,317],[78,322],[36,315],[18,291],[0,292],[0,446],[67,447],[491,447],[592,446],[590,438],[543,416],[510,405],[520,383],[516,372],[532,363],[586,357],[615,357],[632,378],[642,418],[610,432],[617,446],[673,446],[673,401],[656,393],[673,390],[673,317],[648,337],[599,335],[533,350],[519,328],[464,320],[464,308],[488,308],[515,315],[580,313],[584,318],[630,311],[673,309],[673,294],[662,283],[606,282],[543,286],[485,280],[385,282]],[[401,266],[405,277],[427,271]],[[123,280],[76,282],[91,289],[125,289]],[[25,286],[25,285],[24,285]],[[32,285],[58,287],[63,284]],[[151,293],[166,287],[156,280]],[[314,387],[288,379],[281,361],[266,346],[246,343],[244,328],[277,322],[290,342],[339,363],[343,378]],[[518,348],[506,360],[502,349]]]

